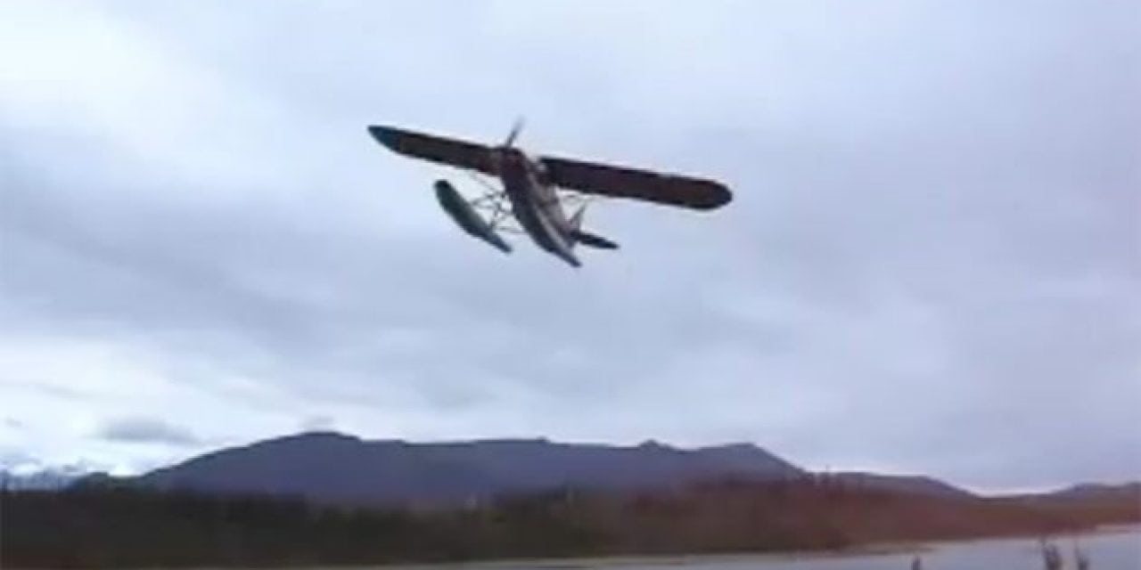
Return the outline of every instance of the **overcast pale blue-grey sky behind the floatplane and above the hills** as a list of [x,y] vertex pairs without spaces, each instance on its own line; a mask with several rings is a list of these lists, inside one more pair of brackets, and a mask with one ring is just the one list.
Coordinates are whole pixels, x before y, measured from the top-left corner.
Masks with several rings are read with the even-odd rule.
[[[310,429],[1141,477],[1134,1],[0,3],[0,464]],[[723,180],[574,269],[398,124]],[[515,237],[515,236],[512,236]]]

